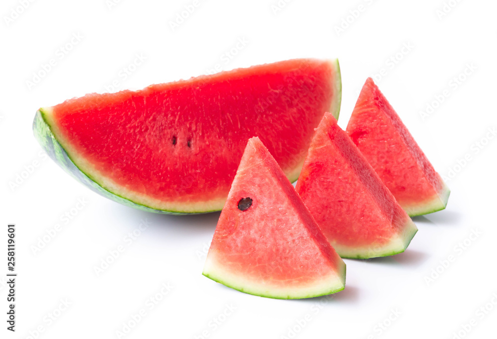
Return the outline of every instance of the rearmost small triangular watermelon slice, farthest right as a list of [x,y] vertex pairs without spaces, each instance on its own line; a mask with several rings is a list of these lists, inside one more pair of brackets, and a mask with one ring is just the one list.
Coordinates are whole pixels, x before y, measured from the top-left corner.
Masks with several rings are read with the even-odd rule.
[[346,131],[410,216],[445,208],[449,188],[371,78]]

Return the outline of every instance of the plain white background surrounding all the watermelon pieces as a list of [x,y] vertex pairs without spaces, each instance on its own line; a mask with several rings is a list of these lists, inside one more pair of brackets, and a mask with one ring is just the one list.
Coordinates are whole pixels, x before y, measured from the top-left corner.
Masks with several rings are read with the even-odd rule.
[[[280,2],[285,6],[278,11],[277,0],[201,0],[175,30],[170,22],[193,0],[122,0],[110,8],[105,0],[45,0],[23,10],[20,2],[0,6],[0,338],[36,336],[39,326],[38,338],[118,338],[116,331],[141,309],[146,316],[123,338],[195,338],[203,331],[230,339],[452,339],[458,331],[464,338],[496,338],[497,138],[486,139],[497,127],[495,1],[451,0],[440,17],[443,0],[293,0]],[[349,16],[359,5],[359,15]],[[73,34],[81,38],[71,45]],[[248,43],[226,59],[239,39]],[[61,54],[68,43],[71,50]],[[412,47],[397,54],[404,44]],[[124,80],[119,74],[136,54],[146,60]],[[446,176],[457,171],[447,180],[447,209],[414,218],[419,232],[408,251],[345,260],[347,285],[332,299],[265,299],[209,280],[199,254],[219,213],[155,215],[100,197],[47,160],[31,131],[39,107],[102,92],[114,80],[116,90],[139,89],[204,74],[216,64],[228,70],[296,57],[339,58],[342,128],[366,77],[384,69],[376,83],[435,169]],[[392,57],[396,63],[388,62]],[[28,85],[51,59],[55,66]],[[476,70],[455,88],[453,78],[466,65]],[[450,96],[423,119],[420,111],[444,90]],[[470,160],[458,167],[465,156]],[[24,178],[15,186],[17,175]],[[78,199],[86,203],[76,212]],[[124,237],[142,220],[150,227],[129,244]],[[17,225],[15,334],[4,322],[7,222]],[[56,224],[62,230],[33,254]],[[481,234],[468,240],[472,230]],[[458,244],[465,240],[463,250]],[[94,268],[120,245],[124,253],[97,276]],[[440,266],[449,255],[453,262]],[[427,281],[436,269],[438,277]],[[163,283],[173,287],[150,309],[146,303]],[[66,298],[71,305],[50,322],[46,317]],[[485,315],[478,310],[486,304],[492,310]],[[227,317],[226,305],[236,308]],[[304,325],[299,320],[306,316],[311,320]],[[214,326],[213,318],[224,321]],[[299,333],[289,337],[289,328]]]

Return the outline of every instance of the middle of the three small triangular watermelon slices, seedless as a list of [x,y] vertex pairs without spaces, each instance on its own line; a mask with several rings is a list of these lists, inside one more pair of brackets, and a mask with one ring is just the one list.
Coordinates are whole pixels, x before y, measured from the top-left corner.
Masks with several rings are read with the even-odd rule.
[[296,190],[341,257],[404,252],[417,231],[330,113],[316,130]]

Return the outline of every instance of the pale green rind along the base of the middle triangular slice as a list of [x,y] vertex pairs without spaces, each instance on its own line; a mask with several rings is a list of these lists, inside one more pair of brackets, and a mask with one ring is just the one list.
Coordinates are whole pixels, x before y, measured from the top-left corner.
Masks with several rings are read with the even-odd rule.
[[379,249],[375,249],[374,251],[364,250],[363,253],[360,250],[356,249],[355,250],[356,254],[353,255],[340,253],[340,251],[337,248],[335,248],[335,250],[340,255],[340,257],[345,259],[371,259],[371,258],[400,254],[407,250],[407,248],[411,244],[411,241],[416,235],[417,231],[418,230],[416,225],[409,218],[409,221],[404,226],[404,232],[398,235],[397,239],[395,239],[394,241],[386,244],[385,246]]

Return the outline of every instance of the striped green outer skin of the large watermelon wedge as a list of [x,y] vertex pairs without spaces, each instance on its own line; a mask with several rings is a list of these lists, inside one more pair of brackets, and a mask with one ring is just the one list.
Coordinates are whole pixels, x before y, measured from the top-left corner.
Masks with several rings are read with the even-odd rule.
[[83,185],[87,186],[92,191],[119,202],[125,206],[133,207],[146,212],[154,212],[154,213],[162,213],[162,214],[176,214],[176,215],[185,215],[185,214],[193,214],[193,213],[209,213],[214,211],[205,211],[205,212],[176,212],[176,211],[165,211],[165,210],[157,210],[154,208],[150,208],[141,204],[138,204],[132,200],[123,198],[122,196],[116,195],[107,189],[100,186],[96,183],[91,176],[84,173],[81,169],[79,169],[74,162],[71,160],[71,157],[67,154],[66,150],[62,147],[62,145],[57,141],[50,126],[46,122],[44,118],[43,109],[40,109],[36,112],[36,115],[33,120],[33,133],[41,145],[41,147],[47,152],[49,157],[57,163],[62,169],[71,174],[76,180],[83,183]]

